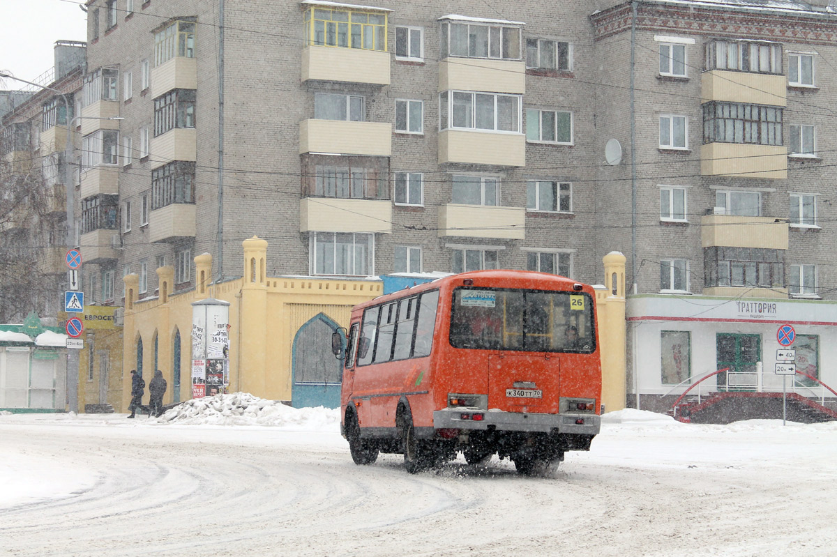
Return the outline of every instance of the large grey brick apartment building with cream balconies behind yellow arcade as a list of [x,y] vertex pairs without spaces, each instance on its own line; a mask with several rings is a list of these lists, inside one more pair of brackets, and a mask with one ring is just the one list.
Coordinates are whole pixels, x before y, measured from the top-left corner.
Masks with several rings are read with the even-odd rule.
[[828,2],[86,8],[75,210],[94,300],[121,304],[130,274],[160,295],[165,267],[173,294],[194,289],[200,253],[239,277],[254,235],[281,246],[268,276],[600,283],[617,250],[634,397],[769,367],[784,321],[837,382],[819,369],[837,324]]

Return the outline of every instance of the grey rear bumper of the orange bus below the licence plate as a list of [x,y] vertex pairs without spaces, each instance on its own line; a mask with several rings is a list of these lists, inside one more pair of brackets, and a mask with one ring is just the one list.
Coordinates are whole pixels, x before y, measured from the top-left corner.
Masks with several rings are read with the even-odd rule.
[[[483,419],[474,420],[474,414],[481,414]],[[469,417],[463,419],[465,416]],[[602,418],[596,414],[532,414],[473,408],[444,408],[433,412],[434,429],[598,435],[601,425]]]

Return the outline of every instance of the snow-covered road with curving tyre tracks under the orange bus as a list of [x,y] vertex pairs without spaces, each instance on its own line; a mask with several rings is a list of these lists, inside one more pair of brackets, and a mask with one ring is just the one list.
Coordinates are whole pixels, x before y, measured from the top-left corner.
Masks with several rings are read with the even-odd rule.
[[[316,414],[316,412],[315,412]],[[548,477],[352,463],[329,420],[0,416],[0,555],[834,555],[837,423],[603,419]],[[325,424],[325,425],[324,425]]]

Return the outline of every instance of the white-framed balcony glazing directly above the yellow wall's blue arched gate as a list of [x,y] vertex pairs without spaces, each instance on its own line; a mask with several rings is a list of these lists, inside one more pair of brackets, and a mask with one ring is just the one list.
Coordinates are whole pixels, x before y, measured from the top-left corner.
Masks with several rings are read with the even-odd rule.
[[373,234],[312,233],[311,268],[314,274],[374,274]]

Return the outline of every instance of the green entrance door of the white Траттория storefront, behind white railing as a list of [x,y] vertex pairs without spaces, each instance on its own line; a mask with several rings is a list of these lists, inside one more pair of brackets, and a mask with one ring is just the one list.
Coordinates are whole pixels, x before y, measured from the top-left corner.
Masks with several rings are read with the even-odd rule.
[[718,333],[716,335],[718,391],[753,391],[757,385],[757,362],[762,360],[762,335]]

